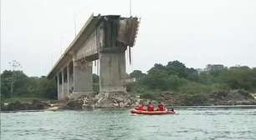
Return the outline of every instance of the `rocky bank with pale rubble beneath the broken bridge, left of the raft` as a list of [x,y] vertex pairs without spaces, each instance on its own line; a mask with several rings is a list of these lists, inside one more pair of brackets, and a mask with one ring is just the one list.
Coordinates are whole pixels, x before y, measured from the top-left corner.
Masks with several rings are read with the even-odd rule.
[[65,99],[60,101],[42,102],[11,102],[1,104],[2,111],[18,110],[52,110],[59,109],[82,110],[94,108],[119,108],[136,107],[139,97],[133,97],[127,92],[104,92],[98,95],[87,95],[78,98]]

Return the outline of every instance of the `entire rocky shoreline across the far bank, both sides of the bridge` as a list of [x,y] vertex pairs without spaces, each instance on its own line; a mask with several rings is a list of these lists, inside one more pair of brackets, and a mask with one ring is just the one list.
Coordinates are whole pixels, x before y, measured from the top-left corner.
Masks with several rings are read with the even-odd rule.
[[[164,102],[166,106],[235,106],[256,105],[253,94],[243,90],[212,92],[209,94],[197,94],[193,96],[175,95],[172,92],[161,92],[154,97],[156,101]],[[151,100],[147,97],[131,96],[129,93],[105,92],[96,96],[82,96],[76,99],[63,101],[42,102],[11,102],[2,103],[2,111],[20,110],[51,110],[59,109],[82,110],[94,108],[119,108],[136,107],[140,100]]]

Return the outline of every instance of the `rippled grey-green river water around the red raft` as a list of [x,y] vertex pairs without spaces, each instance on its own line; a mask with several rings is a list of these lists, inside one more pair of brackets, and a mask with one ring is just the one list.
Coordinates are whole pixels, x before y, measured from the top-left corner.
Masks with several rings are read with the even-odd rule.
[[254,139],[256,107],[180,107],[175,115],[129,109],[1,113],[1,140]]

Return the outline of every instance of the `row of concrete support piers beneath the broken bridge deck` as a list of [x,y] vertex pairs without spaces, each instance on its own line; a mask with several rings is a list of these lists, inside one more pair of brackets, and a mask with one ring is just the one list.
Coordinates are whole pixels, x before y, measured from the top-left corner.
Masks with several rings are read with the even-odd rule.
[[[125,52],[100,53],[90,57],[100,61],[100,92],[125,92]],[[69,62],[57,74],[58,99],[94,93],[93,63],[86,57],[84,59]]]

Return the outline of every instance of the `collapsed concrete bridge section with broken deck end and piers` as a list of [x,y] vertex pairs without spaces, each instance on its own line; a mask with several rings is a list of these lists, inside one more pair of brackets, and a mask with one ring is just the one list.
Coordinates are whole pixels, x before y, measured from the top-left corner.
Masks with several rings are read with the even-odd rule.
[[94,61],[100,92],[125,92],[125,50],[134,46],[138,26],[138,18],[92,15],[47,76],[58,82],[58,99],[93,92]]

